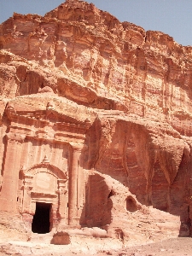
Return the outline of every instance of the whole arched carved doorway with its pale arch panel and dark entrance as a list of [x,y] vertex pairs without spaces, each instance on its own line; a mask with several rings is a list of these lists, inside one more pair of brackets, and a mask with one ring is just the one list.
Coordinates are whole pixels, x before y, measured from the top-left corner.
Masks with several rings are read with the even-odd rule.
[[[68,184],[65,173],[56,166],[51,166],[49,162],[43,161],[24,171],[20,170],[20,179],[22,183],[18,189],[18,208],[27,229],[32,230],[33,233],[44,234],[57,227],[61,221],[68,223]],[[37,230],[38,226],[36,227],[33,222],[36,223],[38,211],[43,211],[42,215],[44,215],[48,206],[51,206],[48,211],[49,229],[42,233],[41,230]]]

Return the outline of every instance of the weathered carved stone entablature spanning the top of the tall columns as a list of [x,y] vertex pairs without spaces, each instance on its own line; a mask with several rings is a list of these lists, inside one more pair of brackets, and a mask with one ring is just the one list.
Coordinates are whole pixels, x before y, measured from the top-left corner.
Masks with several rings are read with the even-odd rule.
[[[12,106],[7,108],[11,120],[10,131],[24,134],[25,137],[34,139],[55,141],[58,143],[84,143],[85,133],[90,128],[90,120],[84,122],[68,119],[61,116],[54,108],[43,111],[15,111]],[[47,114],[49,113],[49,114]],[[55,119],[49,119],[53,114]]]

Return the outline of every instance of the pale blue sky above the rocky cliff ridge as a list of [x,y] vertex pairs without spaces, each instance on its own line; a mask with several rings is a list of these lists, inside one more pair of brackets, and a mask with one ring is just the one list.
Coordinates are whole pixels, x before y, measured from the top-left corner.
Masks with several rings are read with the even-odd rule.
[[[0,0],[0,23],[14,12],[44,15],[65,0]],[[165,32],[178,44],[192,45],[192,0],[88,0],[120,21],[146,31]]]

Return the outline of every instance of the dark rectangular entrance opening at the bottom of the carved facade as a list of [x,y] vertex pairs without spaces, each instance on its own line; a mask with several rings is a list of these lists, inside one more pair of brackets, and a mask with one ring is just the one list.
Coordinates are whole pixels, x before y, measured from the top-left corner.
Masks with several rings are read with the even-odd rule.
[[50,231],[50,207],[51,204],[36,202],[36,211],[32,219],[32,232],[38,234]]

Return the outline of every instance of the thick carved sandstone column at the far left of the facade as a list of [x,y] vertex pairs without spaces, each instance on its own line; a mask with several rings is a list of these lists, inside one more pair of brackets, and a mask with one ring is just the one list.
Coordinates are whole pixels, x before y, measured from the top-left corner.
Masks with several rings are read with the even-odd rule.
[[16,212],[20,154],[25,136],[10,132],[7,138],[8,142],[4,159],[0,211]]

